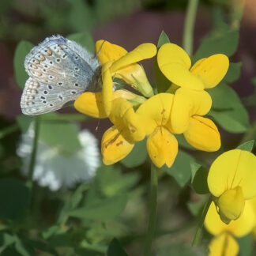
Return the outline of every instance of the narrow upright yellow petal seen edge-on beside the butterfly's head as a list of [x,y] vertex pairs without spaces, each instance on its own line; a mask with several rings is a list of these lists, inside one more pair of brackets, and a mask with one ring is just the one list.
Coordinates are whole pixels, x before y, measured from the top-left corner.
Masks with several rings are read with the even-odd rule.
[[113,95],[113,81],[111,77],[111,73],[109,67],[111,66],[111,62],[107,62],[104,66],[102,66],[101,77],[102,77],[102,102],[104,105],[104,111],[106,115],[110,115],[111,112],[111,102]]

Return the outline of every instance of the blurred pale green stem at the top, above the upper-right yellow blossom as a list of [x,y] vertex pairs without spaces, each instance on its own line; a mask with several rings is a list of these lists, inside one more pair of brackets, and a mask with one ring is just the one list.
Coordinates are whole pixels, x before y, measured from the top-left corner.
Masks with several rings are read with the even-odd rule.
[[183,30],[183,48],[188,55],[193,54],[194,21],[198,9],[198,0],[189,0]]

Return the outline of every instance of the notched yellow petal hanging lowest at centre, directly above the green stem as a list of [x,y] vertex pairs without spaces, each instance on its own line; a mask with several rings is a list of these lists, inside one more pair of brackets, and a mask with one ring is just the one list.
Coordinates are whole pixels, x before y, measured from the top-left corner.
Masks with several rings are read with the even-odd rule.
[[147,139],[147,150],[157,168],[164,164],[170,168],[178,153],[178,141],[163,126],[156,127]]

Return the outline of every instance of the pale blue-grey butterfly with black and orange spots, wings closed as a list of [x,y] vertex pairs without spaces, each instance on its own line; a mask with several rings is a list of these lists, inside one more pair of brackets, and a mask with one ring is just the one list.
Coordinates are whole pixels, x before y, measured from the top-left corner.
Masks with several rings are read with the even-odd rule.
[[78,43],[47,37],[24,60],[28,80],[21,96],[24,115],[56,111],[81,93],[100,91],[100,62]]

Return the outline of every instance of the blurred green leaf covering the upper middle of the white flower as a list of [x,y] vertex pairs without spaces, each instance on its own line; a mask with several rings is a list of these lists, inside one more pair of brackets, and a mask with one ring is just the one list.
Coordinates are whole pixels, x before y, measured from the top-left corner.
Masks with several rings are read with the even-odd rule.
[[[58,116],[56,113],[51,115]],[[68,154],[81,149],[77,126],[68,122],[41,122],[40,140]]]

